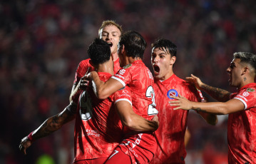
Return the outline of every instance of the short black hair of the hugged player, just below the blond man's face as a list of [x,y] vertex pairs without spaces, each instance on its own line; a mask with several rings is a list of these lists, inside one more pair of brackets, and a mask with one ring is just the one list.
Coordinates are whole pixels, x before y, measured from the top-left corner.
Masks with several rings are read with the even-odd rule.
[[111,58],[111,48],[106,41],[101,39],[94,39],[94,41],[90,44],[88,50],[89,58],[94,64],[105,63],[109,61]]

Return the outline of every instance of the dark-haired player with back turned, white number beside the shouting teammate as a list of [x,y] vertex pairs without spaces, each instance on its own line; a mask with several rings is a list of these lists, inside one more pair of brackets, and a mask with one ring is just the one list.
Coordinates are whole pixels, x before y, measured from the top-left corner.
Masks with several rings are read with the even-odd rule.
[[[158,111],[155,109],[153,76],[142,61],[145,46],[146,42],[138,32],[128,31],[122,34],[118,43],[118,56],[123,68],[106,83],[98,78],[96,72],[91,72],[89,76],[95,83],[98,98],[101,99],[128,85],[131,90],[133,111],[151,120]],[[130,135],[130,133],[132,132],[126,130],[125,139],[106,163],[150,162],[156,149],[153,133],[137,135]],[[127,155],[130,156],[130,160],[123,161],[123,156],[127,157]]]

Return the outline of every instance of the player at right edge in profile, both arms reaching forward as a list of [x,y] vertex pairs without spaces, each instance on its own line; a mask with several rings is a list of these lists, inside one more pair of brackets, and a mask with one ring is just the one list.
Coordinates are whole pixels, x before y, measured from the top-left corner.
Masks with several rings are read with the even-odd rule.
[[[170,106],[178,109],[193,109],[219,115],[229,114],[227,123],[228,163],[256,163],[256,55],[246,52],[234,53],[227,68],[230,86],[237,88],[230,93],[220,88],[208,86],[200,78],[188,78],[198,88],[220,102],[195,103],[184,98],[171,96]],[[178,110],[180,111],[180,110]],[[214,157],[213,157],[214,158]]]

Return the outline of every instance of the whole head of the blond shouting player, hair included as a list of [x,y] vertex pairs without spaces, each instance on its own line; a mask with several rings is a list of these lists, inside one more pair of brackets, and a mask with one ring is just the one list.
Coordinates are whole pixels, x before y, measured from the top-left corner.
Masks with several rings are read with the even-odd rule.
[[100,29],[98,29],[98,37],[110,44],[111,53],[117,52],[121,34],[122,28],[115,21],[103,21]]

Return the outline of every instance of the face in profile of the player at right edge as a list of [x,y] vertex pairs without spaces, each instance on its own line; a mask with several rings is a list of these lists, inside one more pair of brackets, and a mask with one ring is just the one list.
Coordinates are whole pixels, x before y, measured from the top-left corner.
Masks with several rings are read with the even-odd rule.
[[242,66],[240,64],[240,58],[234,58],[227,68],[227,74],[230,76],[228,82],[230,86],[240,87]]

